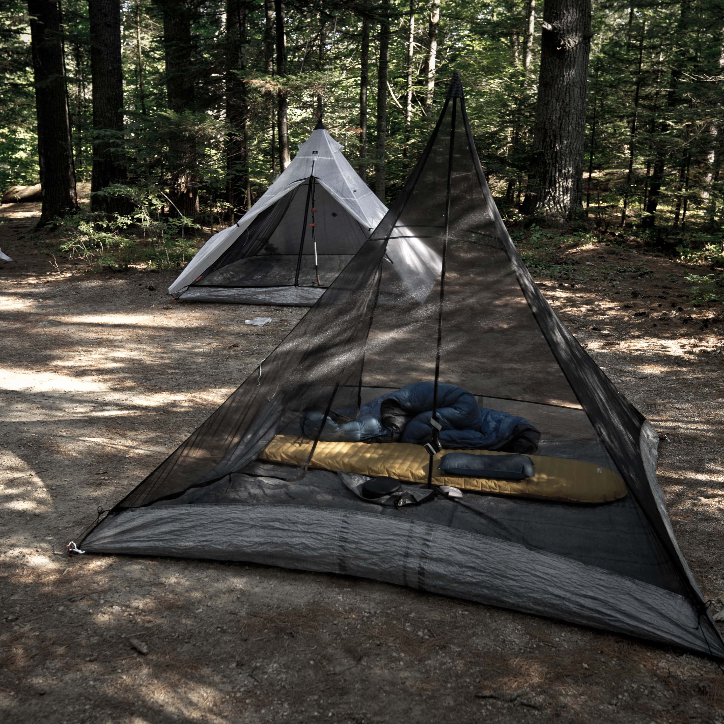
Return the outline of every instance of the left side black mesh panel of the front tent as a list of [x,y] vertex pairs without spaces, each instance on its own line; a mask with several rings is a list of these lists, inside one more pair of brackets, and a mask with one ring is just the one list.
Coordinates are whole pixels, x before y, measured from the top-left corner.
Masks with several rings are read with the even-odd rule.
[[384,243],[368,241],[251,376],[117,508],[148,505],[244,468],[306,411],[355,406]]

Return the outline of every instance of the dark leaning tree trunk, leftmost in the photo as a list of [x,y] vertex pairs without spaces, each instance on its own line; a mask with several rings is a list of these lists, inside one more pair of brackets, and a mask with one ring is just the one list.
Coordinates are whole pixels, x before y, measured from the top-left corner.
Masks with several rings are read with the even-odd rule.
[[68,97],[63,71],[60,9],[55,0],[28,0],[38,119],[43,209],[38,226],[78,208]]

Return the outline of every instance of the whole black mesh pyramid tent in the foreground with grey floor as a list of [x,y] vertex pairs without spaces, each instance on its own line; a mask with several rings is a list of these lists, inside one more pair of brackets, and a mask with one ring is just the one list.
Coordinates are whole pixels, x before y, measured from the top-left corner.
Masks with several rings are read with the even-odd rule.
[[[439,258],[439,274],[413,288],[388,258],[419,245]],[[260,459],[277,434],[300,436],[308,411],[358,410],[419,381],[526,416],[542,432],[540,455],[612,468],[628,494],[576,505],[466,492],[463,504],[394,508],[359,500],[309,458]],[[515,251],[455,75],[421,159],[360,251],[82,547],[376,578],[724,658],[656,481],[657,439]]]

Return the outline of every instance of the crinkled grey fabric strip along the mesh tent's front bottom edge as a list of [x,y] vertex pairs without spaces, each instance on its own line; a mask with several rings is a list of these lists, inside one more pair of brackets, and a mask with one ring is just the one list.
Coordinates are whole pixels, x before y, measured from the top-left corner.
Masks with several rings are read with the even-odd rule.
[[[437,501],[414,510],[432,505]],[[709,647],[702,641],[689,601],[659,586],[370,508],[156,505],[109,516],[83,546],[87,552],[238,560],[374,578],[724,656],[719,641]]]

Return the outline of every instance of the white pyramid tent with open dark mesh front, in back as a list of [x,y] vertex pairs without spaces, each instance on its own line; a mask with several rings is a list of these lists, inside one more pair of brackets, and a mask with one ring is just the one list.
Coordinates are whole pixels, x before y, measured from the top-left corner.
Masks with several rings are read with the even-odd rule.
[[169,293],[182,300],[311,306],[387,207],[320,121],[289,167],[203,245]]

